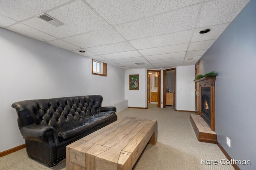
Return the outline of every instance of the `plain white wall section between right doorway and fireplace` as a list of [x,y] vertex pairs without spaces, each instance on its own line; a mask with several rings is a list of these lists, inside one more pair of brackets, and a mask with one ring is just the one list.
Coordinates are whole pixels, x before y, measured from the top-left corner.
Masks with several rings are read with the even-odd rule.
[[176,110],[195,111],[194,72],[194,65],[176,67]]

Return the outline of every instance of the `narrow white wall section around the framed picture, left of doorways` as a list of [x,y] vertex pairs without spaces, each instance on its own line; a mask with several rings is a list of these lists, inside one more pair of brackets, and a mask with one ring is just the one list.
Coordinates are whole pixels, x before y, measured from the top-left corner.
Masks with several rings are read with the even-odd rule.
[[[125,99],[128,100],[128,107],[147,107],[147,70],[145,68],[125,70],[124,74],[124,94]],[[139,74],[139,90],[129,90],[130,74]]]

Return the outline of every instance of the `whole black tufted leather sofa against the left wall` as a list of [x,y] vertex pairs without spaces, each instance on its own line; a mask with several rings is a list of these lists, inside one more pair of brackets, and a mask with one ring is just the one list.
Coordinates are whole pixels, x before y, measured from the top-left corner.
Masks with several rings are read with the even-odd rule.
[[26,100],[12,104],[28,156],[54,166],[66,146],[117,120],[116,107],[101,107],[102,96]]

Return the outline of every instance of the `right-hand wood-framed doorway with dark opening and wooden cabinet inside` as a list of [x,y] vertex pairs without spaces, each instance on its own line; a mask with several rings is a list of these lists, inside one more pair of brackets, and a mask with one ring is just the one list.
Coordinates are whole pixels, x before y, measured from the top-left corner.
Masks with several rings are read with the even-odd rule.
[[176,68],[163,71],[163,107],[171,107],[175,110],[176,101]]

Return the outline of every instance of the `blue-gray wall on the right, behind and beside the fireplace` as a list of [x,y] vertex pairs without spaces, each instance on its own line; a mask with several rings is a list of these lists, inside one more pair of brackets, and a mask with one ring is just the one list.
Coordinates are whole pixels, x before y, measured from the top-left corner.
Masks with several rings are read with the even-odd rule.
[[[215,129],[242,170],[256,169],[256,0],[251,0],[200,59],[201,74],[218,72]],[[231,147],[226,145],[226,137]]]

